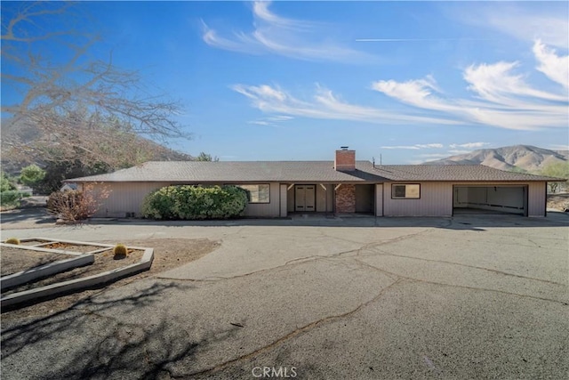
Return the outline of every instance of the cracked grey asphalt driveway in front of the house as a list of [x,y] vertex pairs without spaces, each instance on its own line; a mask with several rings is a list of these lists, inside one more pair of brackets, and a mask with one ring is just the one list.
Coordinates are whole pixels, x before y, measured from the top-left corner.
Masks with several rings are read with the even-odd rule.
[[67,311],[3,320],[2,376],[567,378],[568,226],[550,213],[3,229],[221,245]]

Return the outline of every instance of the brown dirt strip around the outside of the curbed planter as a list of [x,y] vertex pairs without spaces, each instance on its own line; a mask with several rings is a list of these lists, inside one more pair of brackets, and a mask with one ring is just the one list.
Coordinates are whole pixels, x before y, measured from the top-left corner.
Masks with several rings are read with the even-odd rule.
[[[97,241],[99,243],[115,244],[114,241]],[[154,248],[154,261],[149,271],[140,272],[134,276],[120,279],[107,287],[84,290],[83,292],[64,295],[59,298],[31,304],[17,310],[3,310],[2,319],[20,319],[28,317],[40,317],[57,311],[68,309],[75,303],[92,295],[104,291],[106,288],[121,287],[138,279],[155,276],[162,271],[168,271],[185,263],[190,263],[209,254],[220,244],[209,239],[142,239],[124,240],[127,247],[152,247]]]

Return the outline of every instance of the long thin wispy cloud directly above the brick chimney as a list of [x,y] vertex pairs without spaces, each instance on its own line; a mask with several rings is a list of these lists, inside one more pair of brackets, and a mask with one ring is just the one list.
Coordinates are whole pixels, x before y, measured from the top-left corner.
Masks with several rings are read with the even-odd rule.
[[249,98],[253,107],[266,113],[289,117],[357,120],[374,124],[460,124],[444,117],[414,116],[410,113],[351,104],[320,85],[317,85],[316,92],[309,100],[298,99],[276,85],[233,85],[231,88]]

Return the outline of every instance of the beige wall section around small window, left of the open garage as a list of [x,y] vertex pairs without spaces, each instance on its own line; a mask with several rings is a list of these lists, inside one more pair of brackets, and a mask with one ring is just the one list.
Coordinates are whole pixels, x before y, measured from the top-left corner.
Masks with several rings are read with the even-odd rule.
[[451,216],[453,214],[453,183],[451,182],[394,182],[420,183],[421,198],[392,199],[391,185],[383,184],[383,214],[385,216]]

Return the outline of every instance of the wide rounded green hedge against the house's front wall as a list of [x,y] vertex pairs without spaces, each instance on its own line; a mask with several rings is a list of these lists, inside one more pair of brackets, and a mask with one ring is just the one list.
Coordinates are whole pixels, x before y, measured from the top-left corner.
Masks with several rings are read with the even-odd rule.
[[247,192],[236,186],[167,186],[148,194],[142,215],[149,219],[228,219],[242,216]]

